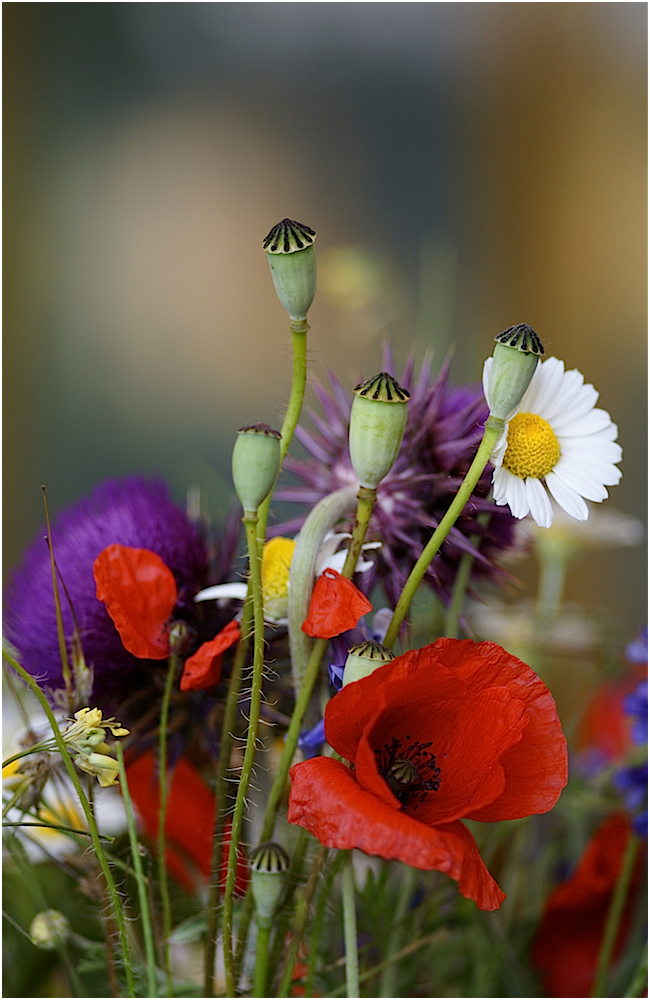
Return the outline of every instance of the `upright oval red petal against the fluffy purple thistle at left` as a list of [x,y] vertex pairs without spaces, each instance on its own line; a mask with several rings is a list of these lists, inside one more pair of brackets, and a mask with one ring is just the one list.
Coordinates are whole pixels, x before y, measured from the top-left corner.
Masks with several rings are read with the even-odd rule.
[[109,545],[95,559],[97,597],[106,605],[124,648],[145,660],[169,655],[165,624],[178,590],[174,574],[149,549]]

